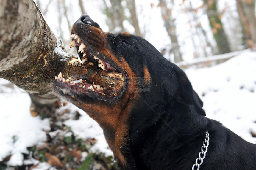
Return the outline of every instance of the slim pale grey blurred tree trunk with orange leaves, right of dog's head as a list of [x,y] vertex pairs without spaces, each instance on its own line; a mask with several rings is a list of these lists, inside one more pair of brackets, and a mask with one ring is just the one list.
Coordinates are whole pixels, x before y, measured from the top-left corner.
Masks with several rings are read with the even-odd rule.
[[[182,55],[179,50],[179,43],[177,40],[177,34],[176,34],[176,25],[175,25],[175,18],[172,17],[172,9],[169,9],[167,7],[165,0],[159,0],[162,12],[162,18],[164,20],[164,25],[166,28],[166,31],[171,39],[171,45],[173,47],[173,53],[174,53],[174,62],[183,61]],[[174,1],[172,0],[172,3]]]

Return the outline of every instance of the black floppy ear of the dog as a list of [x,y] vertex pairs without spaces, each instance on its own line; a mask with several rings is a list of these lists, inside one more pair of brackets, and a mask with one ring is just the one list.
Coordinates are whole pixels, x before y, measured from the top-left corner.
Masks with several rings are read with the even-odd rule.
[[177,100],[185,105],[193,105],[198,114],[205,116],[205,111],[202,109],[203,102],[193,90],[185,72],[178,66],[174,66],[173,69],[178,79]]

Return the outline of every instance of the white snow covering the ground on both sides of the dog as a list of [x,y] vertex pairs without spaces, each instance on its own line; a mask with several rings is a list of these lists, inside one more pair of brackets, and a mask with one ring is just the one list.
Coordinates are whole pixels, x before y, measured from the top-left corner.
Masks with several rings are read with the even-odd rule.
[[[245,52],[222,64],[187,69],[185,72],[194,90],[204,101],[203,108],[207,117],[220,121],[243,139],[256,144],[256,138],[250,133],[256,133],[256,52]],[[37,160],[24,161],[22,153],[28,153],[27,147],[46,141],[50,123],[48,118],[41,120],[38,116],[30,115],[30,102],[26,92],[16,86],[10,87],[7,80],[0,79],[0,162],[12,154],[9,165],[22,165],[28,161],[38,163]],[[61,109],[67,108],[71,113],[78,111],[81,114],[78,120],[69,119],[64,122],[71,127],[74,136],[82,139],[96,138],[97,143],[91,150],[111,155],[99,125],[72,104]],[[51,136],[56,133],[51,133]],[[36,169],[49,167],[44,162]]]

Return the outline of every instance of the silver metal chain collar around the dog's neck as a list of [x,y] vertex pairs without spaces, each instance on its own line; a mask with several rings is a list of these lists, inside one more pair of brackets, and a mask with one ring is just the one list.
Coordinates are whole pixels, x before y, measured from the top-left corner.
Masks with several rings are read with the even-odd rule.
[[[195,170],[195,167],[197,167],[196,170],[199,170],[200,165],[202,165],[203,160],[205,159],[206,152],[208,150],[209,140],[209,133],[208,131],[206,131],[205,140],[203,141],[203,146],[201,146],[201,152],[199,152],[199,156],[198,158],[196,158],[196,163],[192,166],[192,170]],[[200,163],[197,162],[198,160],[200,161]]]

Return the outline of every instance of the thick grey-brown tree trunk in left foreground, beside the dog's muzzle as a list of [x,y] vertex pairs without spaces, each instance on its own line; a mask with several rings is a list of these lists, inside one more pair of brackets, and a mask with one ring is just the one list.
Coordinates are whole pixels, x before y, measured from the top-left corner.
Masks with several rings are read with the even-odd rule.
[[54,77],[73,56],[32,0],[1,0],[0,23],[0,77],[28,92],[37,107],[52,106],[58,99],[51,91]]

